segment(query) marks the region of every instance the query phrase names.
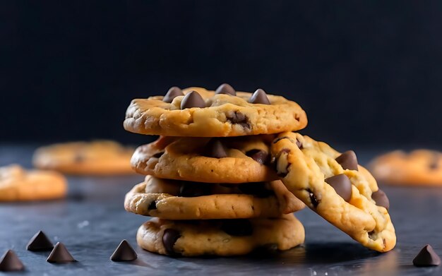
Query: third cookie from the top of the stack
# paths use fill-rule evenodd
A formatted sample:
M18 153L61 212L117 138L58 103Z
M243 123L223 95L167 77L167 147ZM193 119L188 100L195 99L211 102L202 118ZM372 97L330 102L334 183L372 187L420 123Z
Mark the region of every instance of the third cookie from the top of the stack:
M281 181L208 184L147 176L126 194L124 208L167 220L280 217L304 208Z

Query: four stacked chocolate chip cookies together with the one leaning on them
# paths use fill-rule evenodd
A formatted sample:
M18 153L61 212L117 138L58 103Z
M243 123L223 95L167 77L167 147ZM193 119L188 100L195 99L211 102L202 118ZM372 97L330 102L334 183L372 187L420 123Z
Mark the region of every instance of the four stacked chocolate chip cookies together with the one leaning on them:
M131 159L146 178L125 208L154 217L138 244L169 256L285 250L304 242L292 212L307 205L362 245L392 249L386 194L354 152L292 132L306 124L296 102L227 84L133 100L124 128L160 136Z

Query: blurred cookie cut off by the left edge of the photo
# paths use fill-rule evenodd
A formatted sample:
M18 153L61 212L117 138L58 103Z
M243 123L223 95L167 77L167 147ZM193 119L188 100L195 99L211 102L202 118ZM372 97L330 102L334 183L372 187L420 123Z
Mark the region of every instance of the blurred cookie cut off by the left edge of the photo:
M50 200L66 196L67 184L58 172L0 167L0 201Z

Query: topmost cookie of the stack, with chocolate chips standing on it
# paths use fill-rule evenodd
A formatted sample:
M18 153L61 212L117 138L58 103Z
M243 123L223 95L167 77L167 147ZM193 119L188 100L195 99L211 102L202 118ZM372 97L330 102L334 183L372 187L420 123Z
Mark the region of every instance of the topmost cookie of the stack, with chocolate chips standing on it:
M124 120L127 131L148 135L227 137L297 131L306 113L284 97L236 92L230 85L216 91L170 88L165 96L136 99Z

